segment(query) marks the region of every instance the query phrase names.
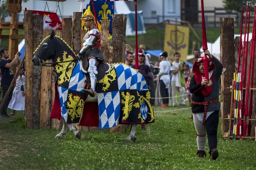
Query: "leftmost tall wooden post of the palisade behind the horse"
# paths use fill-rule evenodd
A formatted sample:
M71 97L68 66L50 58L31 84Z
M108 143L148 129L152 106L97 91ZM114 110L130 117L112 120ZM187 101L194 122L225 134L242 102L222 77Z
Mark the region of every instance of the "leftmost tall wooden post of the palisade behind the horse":
M25 122L26 127L33 127L33 12L24 11L25 55L26 56L26 96L25 96Z

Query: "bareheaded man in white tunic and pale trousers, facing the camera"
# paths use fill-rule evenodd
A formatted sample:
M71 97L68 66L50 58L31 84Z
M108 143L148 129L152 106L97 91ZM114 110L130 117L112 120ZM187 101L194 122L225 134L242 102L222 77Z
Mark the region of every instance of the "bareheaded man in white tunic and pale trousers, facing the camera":
M185 85L181 79L183 77L183 62L180 62L180 53L176 52L174 54L175 61L172 62L172 96L173 96L173 106L177 106L177 92L180 91L180 105L185 106ZM185 81L185 79L184 79Z

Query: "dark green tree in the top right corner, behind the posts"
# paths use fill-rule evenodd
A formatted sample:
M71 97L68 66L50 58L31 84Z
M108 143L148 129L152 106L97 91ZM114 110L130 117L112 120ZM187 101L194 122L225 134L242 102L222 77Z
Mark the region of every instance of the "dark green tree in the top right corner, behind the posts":
M222 2L224 3L224 8L226 9L226 11L228 11L228 12L235 11L240 14L242 13L243 0L223 0ZM253 3L252 3L252 5L253 5ZM244 7L246 8L246 1L244 4Z

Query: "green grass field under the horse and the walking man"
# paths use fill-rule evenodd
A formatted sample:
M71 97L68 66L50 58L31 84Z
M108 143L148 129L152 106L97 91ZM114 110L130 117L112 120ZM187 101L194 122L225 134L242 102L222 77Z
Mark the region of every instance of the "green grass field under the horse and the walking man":
M184 108L154 107L151 135L139 125L137 142L128 144L123 143L128 133L82 132L85 139L80 141L68 132L64 139L54 139L60 130L27 129L20 112L12 118L0 118L0 170L255 169L255 141L224 139L220 124L219 158L211 161L207 154L198 159L190 109ZM175 111L179 109L184 110Z

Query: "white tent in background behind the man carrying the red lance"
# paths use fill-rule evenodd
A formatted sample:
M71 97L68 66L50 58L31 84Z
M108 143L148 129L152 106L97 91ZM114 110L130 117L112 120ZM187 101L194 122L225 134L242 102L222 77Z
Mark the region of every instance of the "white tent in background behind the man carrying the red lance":
M234 34L234 38L236 38L236 37L240 37L240 34ZM249 33L249 41L251 39L252 39L252 33ZM245 40L247 40L247 34L246 34ZM244 34L242 34L242 41L244 42ZM221 43L221 37L218 37L217 40L215 40L215 42L213 42L213 43L207 42L208 50L217 59L220 59L220 56L221 56L221 46L220 46L220 43ZM201 51L201 56L204 56L203 47L200 48L200 51ZM187 59L192 59L193 57L194 57L194 55L189 55L187 57Z

